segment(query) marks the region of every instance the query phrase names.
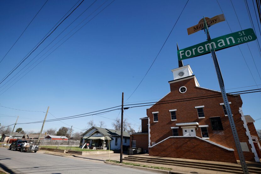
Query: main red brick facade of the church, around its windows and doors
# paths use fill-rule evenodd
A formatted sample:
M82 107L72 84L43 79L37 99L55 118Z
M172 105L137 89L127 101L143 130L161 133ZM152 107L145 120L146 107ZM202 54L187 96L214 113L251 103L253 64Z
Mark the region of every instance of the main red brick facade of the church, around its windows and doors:
M186 93L179 92L179 88L181 86L185 86L187 88ZM238 159L229 119L227 116L225 116L223 107L220 105L220 103L224 103L220 93L196 87L194 78L171 83L170 90L171 92L160 101L202 96L210 96L212 98L153 105L150 109L147 109L147 116L150 117L151 143L157 143L169 136L172 136L172 130L170 127L175 127L176 123L198 122L199 125L208 125L208 134L210 141L223 145L227 148L234 149L236 158ZM219 94L220 97L215 97L217 96L217 94ZM250 150L250 152L244 152L245 158L247 161L254 161L254 154L251 152L251 146L248 143L248 137L246 136L246 129L243 126L241 114L239 113L239 107L242 106L241 97L228 95L228 99L232 103L230 104L230 107L232 110L240 142L246 142ZM197 109L195 109L195 106L201 105L204 105L203 110L205 118L198 118ZM177 121L171 121L169 112L170 109L177 109ZM153 122L152 112L156 111L159 112L158 122ZM220 117L224 130L213 131L209 119L210 117ZM179 135L183 135L182 129L179 130ZM196 130L196 135L198 137L202 137L200 128Z

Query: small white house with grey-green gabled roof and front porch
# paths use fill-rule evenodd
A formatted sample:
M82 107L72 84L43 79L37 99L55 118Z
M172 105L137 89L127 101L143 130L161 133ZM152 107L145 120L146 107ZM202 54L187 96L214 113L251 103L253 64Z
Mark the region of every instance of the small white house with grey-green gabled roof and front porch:
M120 149L120 132L113 129L105 129L101 127L91 127L89 130L81 134L82 145L89 144L89 147L107 147L112 150ZM130 135L123 131L123 146L130 145Z

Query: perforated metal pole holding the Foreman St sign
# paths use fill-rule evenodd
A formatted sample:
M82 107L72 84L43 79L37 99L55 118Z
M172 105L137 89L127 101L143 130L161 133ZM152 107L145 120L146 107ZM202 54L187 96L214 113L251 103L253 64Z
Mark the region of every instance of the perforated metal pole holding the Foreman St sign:
M211 38L210 38L210 35L209 35L209 31L208 31L208 25L206 23L205 17L203 17L203 19L204 19L204 30L205 30L205 33L207 35L208 41L209 41ZM241 166L242 166L242 169L243 169L243 173L248 174L246 160L245 160L245 157L244 157L241 145L240 145L240 141L239 141L239 138L238 138L238 135L237 135L237 132L236 132L236 125L235 125L235 122L234 122L234 119L233 119L233 116L232 116L232 112L231 112L231 109L230 109L229 101L228 101L228 98L227 98L227 95L226 95L225 85L224 85L223 77L222 77L222 74L221 74L221 71L220 71L220 68L219 68L219 63L218 63L218 59L217 59L216 52L215 52L215 49L214 49L214 45L210 46L210 47L211 48L209 48L209 49L211 50L211 55L212 55L214 65L215 65L215 69L216 69L216 72L217 72L221 94L222 94L224 104L225 104L225 107L226 107L226 110L227 110L227 115L228 115L229 123L230 123L231 129L232 129L233 138L234 138L234 141L236 143L237 154L239 156L239 160L240 160L240 163L241 163Z

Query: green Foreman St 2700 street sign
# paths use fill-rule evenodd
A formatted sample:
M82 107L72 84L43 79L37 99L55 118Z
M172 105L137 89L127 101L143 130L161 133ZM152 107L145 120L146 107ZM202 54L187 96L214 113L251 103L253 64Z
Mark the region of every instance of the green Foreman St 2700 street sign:
M208 54L211 52L212 47L215 49L215 51L218 51L224 48L229 48L242 43L254 41L256 39L257 36L255 35L253 29L248 28L246 30L220 36L188 48L180 49L178 50L178 59L184 60Z

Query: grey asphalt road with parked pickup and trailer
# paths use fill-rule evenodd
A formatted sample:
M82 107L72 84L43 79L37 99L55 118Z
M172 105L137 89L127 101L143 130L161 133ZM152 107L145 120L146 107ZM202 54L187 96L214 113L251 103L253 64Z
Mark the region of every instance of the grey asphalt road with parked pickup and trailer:
M129 167L109 165L103 162L78 160L50 154L19 152L0 148L0 168L11 174L151 174L154 172Z

